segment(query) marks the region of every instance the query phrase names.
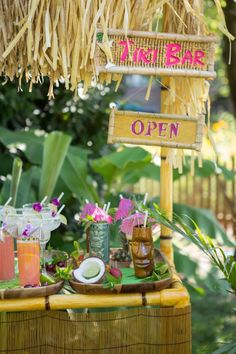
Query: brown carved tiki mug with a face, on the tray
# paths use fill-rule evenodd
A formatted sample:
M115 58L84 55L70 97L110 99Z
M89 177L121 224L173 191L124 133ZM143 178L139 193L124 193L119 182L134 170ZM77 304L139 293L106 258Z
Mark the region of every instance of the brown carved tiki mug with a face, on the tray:
M131 250L136 277L145 278L151 275L154 267L154 246L150 227L134 227Z

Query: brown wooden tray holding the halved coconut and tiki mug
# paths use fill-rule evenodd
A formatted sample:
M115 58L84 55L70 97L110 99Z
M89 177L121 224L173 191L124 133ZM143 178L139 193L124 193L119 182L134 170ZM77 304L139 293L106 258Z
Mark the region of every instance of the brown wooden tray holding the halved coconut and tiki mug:
M165 262L168 263L165 256L158 250L155 249L155 262ZM103 288L102 284L84 284L76 280L70 280L71 287L79 294L120 294L120 293L142 293L148 291L160 291L168 288L172 281L172 271L169 267L170 277L146 283L130 283L130 284L118 284L115 285L113 289Z

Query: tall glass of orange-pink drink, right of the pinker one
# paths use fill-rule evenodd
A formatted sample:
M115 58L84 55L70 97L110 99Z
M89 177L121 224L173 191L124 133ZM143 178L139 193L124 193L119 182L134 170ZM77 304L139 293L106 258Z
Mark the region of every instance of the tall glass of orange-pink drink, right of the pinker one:
M36 239L17 239L20 285L40 284L40 244Z

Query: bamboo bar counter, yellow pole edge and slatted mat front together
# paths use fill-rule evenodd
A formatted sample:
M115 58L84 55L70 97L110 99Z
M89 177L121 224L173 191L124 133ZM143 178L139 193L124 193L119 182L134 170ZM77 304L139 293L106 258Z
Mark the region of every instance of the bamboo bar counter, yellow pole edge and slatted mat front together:
M189 295L176 274L159 292L0 300L4 354L191 354L191 336Z

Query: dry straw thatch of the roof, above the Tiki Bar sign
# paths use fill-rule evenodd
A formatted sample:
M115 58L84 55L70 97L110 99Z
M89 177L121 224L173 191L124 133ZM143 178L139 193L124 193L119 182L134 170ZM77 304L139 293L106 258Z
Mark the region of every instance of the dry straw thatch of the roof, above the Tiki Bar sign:
M228 32L219 0L214 0L220 29ZM0 72L6 78L22 77L29 87L41 77L50 79L49 98L53 86L64 79L65 87L75 91L79 82L86 81L86 89L96 77L94 52L96 27L100 25L107 36L108 28L152 30L153 20L166 6L169 32L208 33L200 0L0 0L1 35ZM173 21L169 21L172 18ZM109 45L103 48L111 59ZM101 74L110 82L111 74ZM120 81L120 77L113 77ZM101 78L99 78L101 80Z

